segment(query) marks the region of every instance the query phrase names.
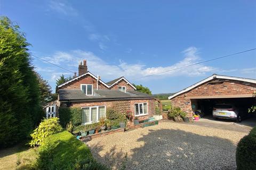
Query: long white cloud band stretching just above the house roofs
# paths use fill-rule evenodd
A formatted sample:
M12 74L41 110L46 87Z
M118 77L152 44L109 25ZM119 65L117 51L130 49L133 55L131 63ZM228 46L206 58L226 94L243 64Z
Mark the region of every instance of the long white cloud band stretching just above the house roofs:
M157 74L159 72L164 72L167 70L184 67L186 65L195 64L201 61L201 58L198 55L198 49L196 47L189 47L184 50L182 54L184 55L184 58L181 61L165 67L147 67L143 64L126 63L124 61L119 61L118 65L113 65L109 64L106 61L103 61L99 56L96 56L92 52L86 52L83 50L73 50L71 52L56 52L51 57L45 57L44 59L50 62L54 62L55 64L61 64L62 67L75 71L78 70L77 67L80 61L87 60L89 71L94 74L99 74L103 80L111 80L121 76L124 76L129 80L133 80L151 74ZM198 64L186 67L185 69L157 74L152 77L143 78L141 80L161 79L181 75L195 77L202 76L209 72L213 73L215 70L217 69L214 67L206 66L204 64ZM58 78L60 74L61 73L54 73L52 79Z

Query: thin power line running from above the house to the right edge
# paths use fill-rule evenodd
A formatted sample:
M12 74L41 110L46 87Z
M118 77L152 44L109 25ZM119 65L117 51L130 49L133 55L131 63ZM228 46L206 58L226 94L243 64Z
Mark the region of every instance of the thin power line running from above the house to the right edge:
M233 56L233 55L236 55L236 54L241 54L241 53L250 52L250 51L255 50L255 49L256 49L256 48L248 49L248 50L245 50L245 51L243 51L243 52L238 52L238 53L234 53L234 54L225 55L225 56L222 56L222 57L213 58L213 59L211 59L211 60L207 60L207 61L204 61L204 62L198 62L198 63L195 63L195 64L186 65L186 66L179 67L179 68L176 68L176 69L166 70L166 71L159 72L159 73L156 73L156 74L146 75L146 76L144 76L144 77L140 77L140 78L133 79L133 80L138 80L138 79L142 79L142 78L147 78L147 77L151 77L151 76L153 76L153 75L162 74L162 73L166 73L166 72L174 71L174 70L178 70L178 69L183 69L183 68L186 68L186 67L189 67L189 66L193 66L193 65L202 64L202 63L206 63L206 62L211 62L211 61L214 61L214 60L219 60L220 58L225 58L225 57Z

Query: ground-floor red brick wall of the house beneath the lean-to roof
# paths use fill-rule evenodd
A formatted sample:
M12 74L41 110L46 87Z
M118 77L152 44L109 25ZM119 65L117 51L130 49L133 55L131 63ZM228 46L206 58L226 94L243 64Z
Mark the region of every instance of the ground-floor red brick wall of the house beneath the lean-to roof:
M134 117L134 104L135 103L148 103L148 115L139 116L139 120L145 120L148 117L155 115L155 99L141 99L141 100L114 100L114 101L88 101L72 103L70 107L87 107L87 106L104 106L106 109L115 107L120 112L125 113L130 110Z

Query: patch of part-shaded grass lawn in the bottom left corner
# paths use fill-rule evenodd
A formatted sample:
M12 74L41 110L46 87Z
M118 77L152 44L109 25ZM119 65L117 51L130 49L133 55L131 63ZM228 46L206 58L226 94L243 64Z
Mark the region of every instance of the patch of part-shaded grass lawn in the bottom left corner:
M0 170L31 169L30 164L36 159L36 148L28 148L23 144L0 150Z

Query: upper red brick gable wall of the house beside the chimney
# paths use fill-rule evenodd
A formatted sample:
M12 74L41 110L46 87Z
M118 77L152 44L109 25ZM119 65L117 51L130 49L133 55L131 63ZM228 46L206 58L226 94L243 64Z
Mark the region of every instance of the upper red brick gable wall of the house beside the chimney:
M60 87L60 89L81 89L80 84L93 84L93 89L97 89L97 80L91 77L91 75L85 75L82 78ZM107 87L99 82L99 89L107 89Z

